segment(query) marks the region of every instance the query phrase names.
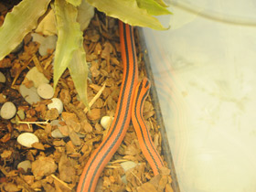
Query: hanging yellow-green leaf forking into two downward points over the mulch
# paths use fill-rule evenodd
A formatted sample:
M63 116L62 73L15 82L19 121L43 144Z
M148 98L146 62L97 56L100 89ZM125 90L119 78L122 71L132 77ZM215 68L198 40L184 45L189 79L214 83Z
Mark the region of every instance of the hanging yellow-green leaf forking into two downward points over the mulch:
M91 9L90 6L87 7ZM54 61L54 88L61 74L69 68L80 101L89 109L87 101L88 68L83 49L82 32L80 24L77 22L78 7L67 3L65 0L55 0L55 13L57 16L58 42ZM93 15L94 12L91 12L91 14ZM87 19L91 20L91 16Z

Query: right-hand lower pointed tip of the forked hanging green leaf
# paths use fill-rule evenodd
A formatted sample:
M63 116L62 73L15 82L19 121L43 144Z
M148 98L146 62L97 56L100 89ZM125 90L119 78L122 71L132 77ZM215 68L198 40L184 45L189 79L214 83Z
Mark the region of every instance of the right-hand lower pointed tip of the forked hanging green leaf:
M87 109L90 110L87 100L87 78L88 67L86 63L85 51L82 45L79 49L74 51L73 58L69 63L69 72L74 81L76 90L79 93L80 101L82 101Z

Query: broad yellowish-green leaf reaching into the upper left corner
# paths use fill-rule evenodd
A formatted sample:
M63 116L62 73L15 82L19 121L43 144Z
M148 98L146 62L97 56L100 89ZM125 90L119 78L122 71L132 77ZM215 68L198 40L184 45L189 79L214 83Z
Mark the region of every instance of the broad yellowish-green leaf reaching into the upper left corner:
M23 0L5 16L0 27L0 60L4 59L33 28L48 8L50 0Z

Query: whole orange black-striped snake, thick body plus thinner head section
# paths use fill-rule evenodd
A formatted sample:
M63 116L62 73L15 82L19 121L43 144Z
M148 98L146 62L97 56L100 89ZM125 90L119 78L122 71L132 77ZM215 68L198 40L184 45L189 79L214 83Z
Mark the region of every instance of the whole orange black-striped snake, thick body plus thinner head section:
M156 155L157 152L149 132L145 130L144 119L141 117L144 98L146 97L150 83L147 79L142 80L140 83L138 80L133 27L119 21L119 32L123 60L123 80L116 111L109 132L92 153L82 171L77 192L93 192L95 190L103 168L109 163L112 155L114 155L118 147L122 144L132 116L134 123L139 124L137 125L138 128L135 129L139 133L139 144L144 143L144 155L148 159L149 164L154 167L154 174L158 174L159 168L163 166L163 162L159 160L161 157ZM134 98L136 99L134 100ZM137 105L141 107L137 107Z

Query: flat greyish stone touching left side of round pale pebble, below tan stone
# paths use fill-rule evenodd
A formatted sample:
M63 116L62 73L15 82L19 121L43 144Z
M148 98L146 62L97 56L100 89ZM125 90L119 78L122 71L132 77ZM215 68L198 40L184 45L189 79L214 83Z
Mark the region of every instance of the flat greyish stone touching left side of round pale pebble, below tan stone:
M19 92L29 104L34 104L41 101L35 87L27 88L25 85L21 84L19 86Z

